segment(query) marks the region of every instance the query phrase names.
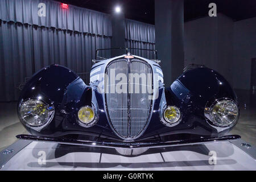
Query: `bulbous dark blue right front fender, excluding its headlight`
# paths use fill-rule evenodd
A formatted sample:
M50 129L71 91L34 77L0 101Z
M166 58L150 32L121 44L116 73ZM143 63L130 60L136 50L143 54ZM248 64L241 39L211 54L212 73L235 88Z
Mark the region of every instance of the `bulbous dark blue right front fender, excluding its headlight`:
M166 94L167 104L169 102L180 108L184 117L182 123L184 125L187 123L192 132L200 126L207 131L205 132L207 135L222 135L228 133L236 124L216 127L205 118L205 107L218 99L229 98L238 105L236 93L229 82L212 69L196 68L187 71L166 90L168 92ZM195 118L197 118L196 122L191 122Z

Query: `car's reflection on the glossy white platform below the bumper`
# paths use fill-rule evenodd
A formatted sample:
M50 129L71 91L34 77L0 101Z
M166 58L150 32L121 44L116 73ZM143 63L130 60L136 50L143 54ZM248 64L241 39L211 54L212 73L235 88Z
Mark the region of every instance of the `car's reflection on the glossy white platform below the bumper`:
M211 146L211 144L208 145ZM32 155L34 158L38 158L38 152L42 151L42 148L44 147L42 146L41 142L38 142L38 144L35 145L35 147L32 149ZM217 165L236 164L236 160L227 159L228 156L234 153L234 148L232 143L225 142L224 145L219 145L218 148L210 148L205 144L194 144L187 146L137 149L84 147L55 144L46 151L46 164L42 165L38 162L29 162L27 166L43 168L210 167L212 166L209 164L210 150L216 151L218 158L226 158L218 159ZM189 154L190 156L186 156L186 154ZM97 161L90 159L91 156L97 155L99 156ZM179 155L179 158L176 158L176 155ZM86 157L88 159L86 159Z

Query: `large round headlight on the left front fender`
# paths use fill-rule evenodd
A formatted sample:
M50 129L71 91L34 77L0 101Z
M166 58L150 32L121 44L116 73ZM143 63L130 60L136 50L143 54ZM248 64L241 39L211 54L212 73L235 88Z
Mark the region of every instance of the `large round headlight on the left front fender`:
M32 127L43 126L50 122L54 115L54 107L41 100L30 99L20 105L20 118Z

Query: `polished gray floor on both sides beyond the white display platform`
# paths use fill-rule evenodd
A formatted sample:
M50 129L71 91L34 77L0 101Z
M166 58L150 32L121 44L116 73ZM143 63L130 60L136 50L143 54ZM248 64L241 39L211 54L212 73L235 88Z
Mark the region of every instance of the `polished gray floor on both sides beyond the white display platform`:
M240 101L240 120L231 131L256 146L256 92L236 90ZM16 102L0 102L0 151L15 142L15 136L26 134L16 114Z

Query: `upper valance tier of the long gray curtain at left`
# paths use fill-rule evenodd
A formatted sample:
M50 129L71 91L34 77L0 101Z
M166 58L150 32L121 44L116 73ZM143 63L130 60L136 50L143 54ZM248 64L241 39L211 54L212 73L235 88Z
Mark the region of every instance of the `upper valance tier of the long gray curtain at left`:
M46 4L46 17L38 16L39 3ZM60 4L46 0L1 0L0 19L6 22L112 36L109 15L72 5L69 5L68 9L62 9Z

